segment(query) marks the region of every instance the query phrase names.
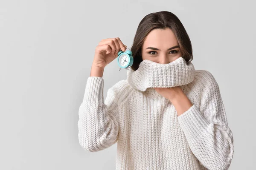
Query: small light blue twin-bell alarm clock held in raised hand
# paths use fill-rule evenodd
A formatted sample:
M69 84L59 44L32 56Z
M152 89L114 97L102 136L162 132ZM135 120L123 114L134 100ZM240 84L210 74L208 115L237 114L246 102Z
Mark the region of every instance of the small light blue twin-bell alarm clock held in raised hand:
M134 61L131 50L127 47L125 51L119 51L117 54L117 64L120 67L119 71L121 68L131 69Z

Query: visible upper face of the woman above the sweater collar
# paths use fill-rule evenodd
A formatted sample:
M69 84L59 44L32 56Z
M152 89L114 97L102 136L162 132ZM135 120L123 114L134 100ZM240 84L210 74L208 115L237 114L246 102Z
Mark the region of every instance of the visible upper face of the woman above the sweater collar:
M142 59L168 64L181 57L177 38L170 28L154 29L142 46Z

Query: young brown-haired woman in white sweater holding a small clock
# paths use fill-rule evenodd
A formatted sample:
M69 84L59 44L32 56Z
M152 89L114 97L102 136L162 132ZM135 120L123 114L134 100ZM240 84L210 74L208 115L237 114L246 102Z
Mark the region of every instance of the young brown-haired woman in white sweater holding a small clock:
M117 142L116 170L226 170L233 158L218 83L195 70L192 45L168 11L141 20L127 79L103 99L106 65L125 45L109 38L96 47L79 108L79 143L96 152Z

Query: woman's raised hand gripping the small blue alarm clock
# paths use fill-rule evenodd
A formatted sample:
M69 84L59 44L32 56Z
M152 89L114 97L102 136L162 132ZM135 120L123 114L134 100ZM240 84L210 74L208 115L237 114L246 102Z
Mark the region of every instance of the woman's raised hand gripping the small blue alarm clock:
M127 46L122 43L119 37L101 40L95 49L93 66L104 69L106 65L118 57L117 53L120 50L125 51L126 48Z

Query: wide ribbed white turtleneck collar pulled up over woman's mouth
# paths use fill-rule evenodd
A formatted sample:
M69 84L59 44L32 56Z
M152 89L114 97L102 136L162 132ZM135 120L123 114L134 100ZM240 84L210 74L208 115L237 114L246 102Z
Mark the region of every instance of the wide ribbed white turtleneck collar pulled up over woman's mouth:
M131 87L155 96L157 93L154 88L171 88L189 84L195 78L194 71L192 62L187 65L183 57L168 64L144 59L136 71L128 69L127 82Z

